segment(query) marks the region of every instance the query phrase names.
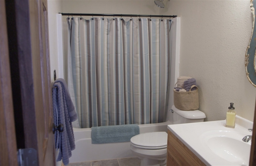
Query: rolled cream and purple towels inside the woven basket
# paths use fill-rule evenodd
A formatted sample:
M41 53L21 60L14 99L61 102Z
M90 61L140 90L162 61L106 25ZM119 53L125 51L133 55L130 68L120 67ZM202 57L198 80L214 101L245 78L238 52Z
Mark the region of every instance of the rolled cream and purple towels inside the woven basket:
M196 79L186 76L180 76L177 79L177 87L174 87L176 91L187 92L192 85L196 85ZM196 90L196 87L193 87L191 91Z

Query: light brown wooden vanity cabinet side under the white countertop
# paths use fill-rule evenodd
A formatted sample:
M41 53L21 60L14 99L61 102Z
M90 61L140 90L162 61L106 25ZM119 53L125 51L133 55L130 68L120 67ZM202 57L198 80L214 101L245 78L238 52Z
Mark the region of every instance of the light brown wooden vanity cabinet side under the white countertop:
M168 130L167 166L205 166L186 145Z

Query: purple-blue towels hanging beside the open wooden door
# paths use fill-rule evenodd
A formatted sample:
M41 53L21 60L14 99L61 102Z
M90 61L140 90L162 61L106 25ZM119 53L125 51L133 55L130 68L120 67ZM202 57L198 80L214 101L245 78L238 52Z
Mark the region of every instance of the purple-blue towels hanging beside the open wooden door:
M68 93L68 86L64 79L54 81L52 89L52 107L54 124L64 125L64 131L54 134L56 149L59 149L57 161L62 159L68 165L71 150L75 149L75 139L72 122L77 119L76 110Z

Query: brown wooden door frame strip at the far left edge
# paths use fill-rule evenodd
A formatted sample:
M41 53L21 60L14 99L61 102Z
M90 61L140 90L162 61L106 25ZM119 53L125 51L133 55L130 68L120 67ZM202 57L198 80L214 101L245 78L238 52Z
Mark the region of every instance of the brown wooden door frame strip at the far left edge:
M17 165L5 3L0 1L0 166Z

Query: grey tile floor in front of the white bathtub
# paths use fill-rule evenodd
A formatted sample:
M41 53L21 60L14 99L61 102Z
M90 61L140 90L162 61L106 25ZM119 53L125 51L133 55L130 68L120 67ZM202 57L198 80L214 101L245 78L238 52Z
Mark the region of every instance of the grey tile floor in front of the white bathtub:
M140 159L137 157L113 159L113 160L100 160L92 162L78 162L70 163L68 166L140 166Z

